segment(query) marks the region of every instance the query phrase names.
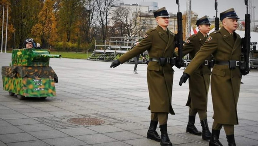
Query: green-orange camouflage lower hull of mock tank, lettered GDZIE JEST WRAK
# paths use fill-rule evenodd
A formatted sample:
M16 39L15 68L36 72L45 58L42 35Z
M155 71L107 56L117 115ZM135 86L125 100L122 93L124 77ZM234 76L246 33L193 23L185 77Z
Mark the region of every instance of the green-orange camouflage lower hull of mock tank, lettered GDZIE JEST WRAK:
M50 78L11 78L2 76L3 89L25 97L56 96L54 79Z

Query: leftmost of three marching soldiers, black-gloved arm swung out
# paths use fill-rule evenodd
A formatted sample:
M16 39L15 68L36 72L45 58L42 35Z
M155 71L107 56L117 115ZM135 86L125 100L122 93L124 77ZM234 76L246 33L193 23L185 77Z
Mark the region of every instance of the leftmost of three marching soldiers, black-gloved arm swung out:
M167 133L168 113L175 114L171 106L172 85L174 70L173 65L178 59L175 54L175 35L168 30L169 14L165 7L154 12L158 26L148 30L144 39L117 60L110 67L117 67L134 56L148 51L150 61L147 67L147 82L150 97L151 123L147 138L160 141L162 146L172 146ZM176 59L177 58L177 59ZM179 67L180 68L180 67ZM161 138L156 132L159 122Z

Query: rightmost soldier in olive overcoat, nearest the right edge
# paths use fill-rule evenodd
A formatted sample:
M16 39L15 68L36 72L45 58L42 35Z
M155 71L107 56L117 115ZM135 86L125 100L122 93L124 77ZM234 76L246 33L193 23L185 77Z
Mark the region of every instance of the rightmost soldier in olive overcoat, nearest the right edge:
M185 69L179 85L186 82L189 76L203 61L213 55L215 64L211 75L211 92L213 103L212 137L209 146L222 146L219 133L224 127L229 146L235 146L234 125L238 124L237 101L242 74L239 62L243 61L241 54L241 38L235 32L239 17L233 8L220 13L223 26L219 31L212 32L194 59Z

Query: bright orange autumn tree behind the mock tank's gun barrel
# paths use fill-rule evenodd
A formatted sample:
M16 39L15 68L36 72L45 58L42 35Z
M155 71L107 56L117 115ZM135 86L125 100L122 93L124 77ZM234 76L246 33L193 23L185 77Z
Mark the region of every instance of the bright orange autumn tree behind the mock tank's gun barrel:
M32 27L32 35L42 47L57 40L56 19L53 13L53 1L46 0L38 15L38 23Z

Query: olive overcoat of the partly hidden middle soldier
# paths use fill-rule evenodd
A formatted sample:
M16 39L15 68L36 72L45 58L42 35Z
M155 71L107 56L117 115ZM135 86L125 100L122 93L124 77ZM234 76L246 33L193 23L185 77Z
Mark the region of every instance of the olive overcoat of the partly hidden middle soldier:
M190 58L200 50L206 38L199 31L190 36L182 49L182 56L189 53ZM211 55L205 60L211 60ZM189 94L186 106L194 109L207 110L208 91L210 86L211 69L201 65L189 78Z

